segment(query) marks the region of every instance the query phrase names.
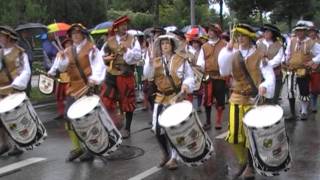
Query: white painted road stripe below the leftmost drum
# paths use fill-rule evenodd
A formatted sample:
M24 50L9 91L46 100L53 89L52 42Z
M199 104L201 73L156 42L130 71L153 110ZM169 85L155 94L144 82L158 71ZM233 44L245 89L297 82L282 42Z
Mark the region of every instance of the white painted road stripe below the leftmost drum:
M0 177L4 174L21 169L22 167L29 166L31 164L38 163L38 162L41 162L44 160L46 160L46 158L29 158L29 159L26 159L23 161L19 161L19 162L1 167L0 168Z

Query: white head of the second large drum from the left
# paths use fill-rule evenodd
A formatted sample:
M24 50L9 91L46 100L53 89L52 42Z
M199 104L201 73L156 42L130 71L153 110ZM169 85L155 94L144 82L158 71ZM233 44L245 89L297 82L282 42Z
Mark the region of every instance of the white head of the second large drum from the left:
M81 118L92 111L99 104L99 101L100 98L96 95L83 96L70 106L67 115L70 119Z

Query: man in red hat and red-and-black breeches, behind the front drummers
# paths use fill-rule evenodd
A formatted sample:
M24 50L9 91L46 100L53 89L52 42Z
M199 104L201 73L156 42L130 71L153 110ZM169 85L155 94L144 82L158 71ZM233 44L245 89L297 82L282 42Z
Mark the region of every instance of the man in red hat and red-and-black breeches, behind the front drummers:
M136 108L134 71L142 57L139 41L127 33L128 22L127 16L115 20L109 38L101 48L107 65L103 103L108 112L113 113L119 101L120 110L125 113L126 119L123 138L130 137L133 111Z

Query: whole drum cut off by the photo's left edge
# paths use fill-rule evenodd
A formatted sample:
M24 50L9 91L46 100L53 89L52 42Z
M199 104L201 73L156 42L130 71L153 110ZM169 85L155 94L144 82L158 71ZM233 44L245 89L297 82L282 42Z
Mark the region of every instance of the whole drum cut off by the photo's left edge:
M0 119L19 149L31 150L47 137L45 127L24 92L0 101Z

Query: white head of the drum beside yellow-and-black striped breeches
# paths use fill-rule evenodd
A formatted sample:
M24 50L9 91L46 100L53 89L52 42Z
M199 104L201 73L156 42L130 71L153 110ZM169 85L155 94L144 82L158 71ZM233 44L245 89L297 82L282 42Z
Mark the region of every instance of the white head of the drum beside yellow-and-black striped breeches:
M246 113L243 122L248 127L263 128L271 126L283 117L283 109L279 105L262 105Z

